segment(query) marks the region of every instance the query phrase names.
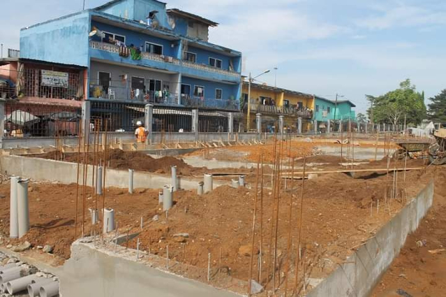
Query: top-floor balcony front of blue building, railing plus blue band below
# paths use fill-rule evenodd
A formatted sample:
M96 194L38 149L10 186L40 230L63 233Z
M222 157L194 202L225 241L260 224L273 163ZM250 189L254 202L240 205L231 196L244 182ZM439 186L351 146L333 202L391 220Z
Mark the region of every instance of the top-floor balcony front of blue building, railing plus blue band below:
M112 54L116 54L119 55L119 53L121 52L121 48L118 45L113 45L110 43L102 43L102 42L98 42L98 41L90 41L90 48L93 50L101 50L107 53L112 53ZM94 56L94 55L92 55ZM102 57L103 59L111 59L111 57ZM113 57L115 59L117 59L117 57ZM128 61L133 61L131 59L131 57L122 57L120 56L121 59L128 59ZM191 69L191 75L195 75L197 73L195 73L195 71L203 71L205 73L211 73L214 75L223 75L223 78L220 78L221 80L224 80L225 78L228 78L228 80L232 80L232 81L239 81L240 79L240 73L237 73L235 71L229 71L229 70L225 70L225 69L221 69L221 68L216 68L216 67L212 67L209 65L205 65L205 64L197 64L197 63L193 63L191 61L184 61L184 60L180 60L180 59L176 59L174 57L168 57L168 56L164 56L164 55L156 55L156 54L152 54L150 52L141 52L141 60L142 61L147 61L148 63L143 63L143 64L147 64L147 66L154 66L155 68L165 68L166 70L169 71L174 71L174 72L187 72L187 71L181 71L181 67L184 69ZM139 61L139 60L137 60ZM160 64L162 63L162 64ZM138 63L140 64L140 63ZM163 65L163 66L158 66L158 65ZM187 74L187 73L186 73ZM201 74L201 76L208 76L204 73L198 73L199 75ZM218 79L218 78L217 78Z

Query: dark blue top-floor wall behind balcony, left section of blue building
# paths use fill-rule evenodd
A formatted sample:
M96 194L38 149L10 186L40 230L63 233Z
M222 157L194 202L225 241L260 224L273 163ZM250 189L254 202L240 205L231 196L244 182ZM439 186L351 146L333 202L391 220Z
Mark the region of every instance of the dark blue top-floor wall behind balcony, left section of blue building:
M114 27L110 24L103 24L101 22L96 22L96 21L92 21L91 24L92 26L98 27L99 30L126 36L126 45L131 45L133 43L133 45L139 48L140 45L144 47L145 42L148 41L159 45L163 45L163 55L170 57L177 57L180 41L169 41L167 39L162 39L155 36L138 33L136 31ZM94 36L94 38L91 39L94 41L101 41L101 38L99 36ZM174 48L172 48L172 44L174 44Z

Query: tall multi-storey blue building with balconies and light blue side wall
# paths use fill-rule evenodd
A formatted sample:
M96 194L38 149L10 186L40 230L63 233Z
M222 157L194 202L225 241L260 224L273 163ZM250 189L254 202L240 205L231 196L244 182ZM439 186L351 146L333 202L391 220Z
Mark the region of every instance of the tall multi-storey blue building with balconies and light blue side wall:
M241 53L209 43L217 25L161 1L113 0L22 29L20 57L87 67L91 115L129 129L136 115L122 114L147 103L185 114L239 110Z

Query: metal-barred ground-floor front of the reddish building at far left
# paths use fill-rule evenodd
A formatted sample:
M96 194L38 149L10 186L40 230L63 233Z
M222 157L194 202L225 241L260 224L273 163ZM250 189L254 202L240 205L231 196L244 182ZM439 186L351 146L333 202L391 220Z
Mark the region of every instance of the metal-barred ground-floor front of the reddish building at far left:
M76 136L81 108L6 101L6 138Z

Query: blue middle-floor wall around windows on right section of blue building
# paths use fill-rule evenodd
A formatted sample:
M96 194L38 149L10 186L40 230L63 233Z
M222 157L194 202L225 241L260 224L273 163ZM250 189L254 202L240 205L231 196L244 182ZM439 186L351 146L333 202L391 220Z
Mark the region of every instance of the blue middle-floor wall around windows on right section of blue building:
M229 100L231 96L233 99L238 100L239 85L228 85L221 82L212 82L209 80L199 80L197 78L189 78L184 74L181 75L181 83L191 85L191 96L193 96L193 89L195 85L205 87L205 99L206 101L215 100L215 89L223 90L223 101Z

